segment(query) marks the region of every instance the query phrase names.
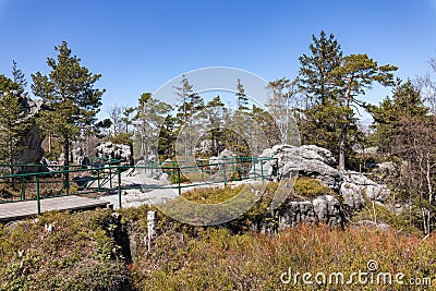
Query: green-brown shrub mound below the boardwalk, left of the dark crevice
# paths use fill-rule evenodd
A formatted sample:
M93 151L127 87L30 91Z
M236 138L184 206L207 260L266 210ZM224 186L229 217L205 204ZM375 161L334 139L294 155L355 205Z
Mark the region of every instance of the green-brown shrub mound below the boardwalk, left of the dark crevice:
M120 290L130 274L109 210L48 213L0 229L0 290Z

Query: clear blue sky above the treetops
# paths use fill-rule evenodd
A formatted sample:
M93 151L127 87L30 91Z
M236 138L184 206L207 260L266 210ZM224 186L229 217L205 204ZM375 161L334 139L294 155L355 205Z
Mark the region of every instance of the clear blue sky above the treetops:
M10 76L14 59L31 83L66 40L102 74L105 114L204 66L293 77L320 29L334 33L346 54L368 53L414 77L436 57L436 0L0 0L0 73ZM367 98L377 102L388 93L376 87Z

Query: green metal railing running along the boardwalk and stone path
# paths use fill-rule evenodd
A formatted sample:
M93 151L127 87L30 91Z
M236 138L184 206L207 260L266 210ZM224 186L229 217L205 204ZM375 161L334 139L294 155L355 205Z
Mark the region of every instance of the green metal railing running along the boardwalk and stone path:
M40 214L40 199L44 198L117 191L121 208L122 190L138 189L137 185L122 184L123 172L131 175L134 171L143 170L144 172L148 171L152 178L166 173L169 175L170 183L141 184L140 189L178 189L179 195L181 195L183 187L215 183L227 185L231 181L246 179L270 180L271 174L265 174L264 163L271 160L275 160L277 167L277 159L270 157L221 158L211 163L209 160L155 161L143 166L120 166L119 160L94 158L86 167L48 166L52 170L44 172L33 172L32 169L47 167L45 165L0 165L0 168L12 171L12 173L0 175L0 185L12 185L13 187L20 185L15 187L20 192L19 199L2 199L0 203L36 201L37 213ZM71 179L74 174L80 175ZM65 179L66 177L70 178ZM71 186L74 183L77 185L76 187ZM44 192L41 189L45 185L51 185L52 189ZM53 187L57 190L53 191Z

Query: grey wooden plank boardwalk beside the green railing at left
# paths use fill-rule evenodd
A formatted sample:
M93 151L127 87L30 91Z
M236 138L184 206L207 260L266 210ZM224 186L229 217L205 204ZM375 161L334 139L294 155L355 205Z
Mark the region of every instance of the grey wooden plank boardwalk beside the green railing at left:
M109 202L82 196L61 196L40 199L41 213L50 210L85 210L107 207ZM17 220L35 216L38 213L36 201L23 201L0 204L0 221Z

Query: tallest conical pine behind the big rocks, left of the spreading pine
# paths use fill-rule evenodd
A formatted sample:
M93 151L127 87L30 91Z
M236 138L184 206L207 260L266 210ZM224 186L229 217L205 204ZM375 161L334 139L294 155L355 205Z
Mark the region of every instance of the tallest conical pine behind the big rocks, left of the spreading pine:
M329 149L339 157L339 141L342 120L347 117L349 128L355 128L350 110L340 107L337 88L330 73L341 64L342 51L332 34L324 31L319 38L312 36L311 54L299 58L299 90L303 104L295 110L302 144L313 144ZM355 120L354 120L355 121ZM356 132L348 131L349 137ZM349 138L349 140L350 140ZM351 153L351 146L347 150Z

